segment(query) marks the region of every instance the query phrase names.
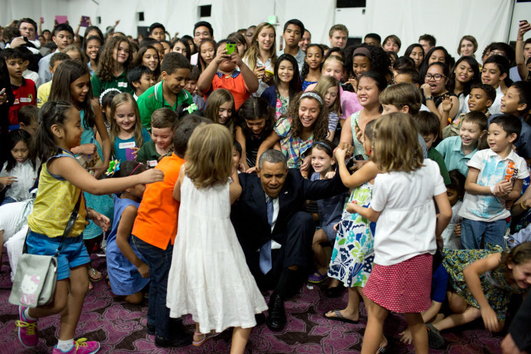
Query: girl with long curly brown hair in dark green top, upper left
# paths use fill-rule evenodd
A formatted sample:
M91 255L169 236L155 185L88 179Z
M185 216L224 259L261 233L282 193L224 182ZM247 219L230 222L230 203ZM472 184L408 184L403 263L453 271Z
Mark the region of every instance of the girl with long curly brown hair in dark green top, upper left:
M98 70L92 75L92 92L99 97L106 89L119 89L134 94L133 87L127 84L127 71L131 64L129 41L122 36L112 37L101 52ZM50 98L51 99L51 98Z

